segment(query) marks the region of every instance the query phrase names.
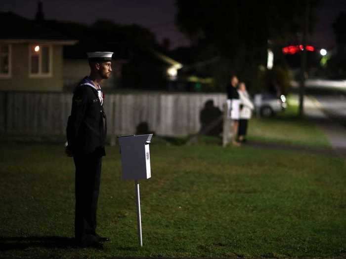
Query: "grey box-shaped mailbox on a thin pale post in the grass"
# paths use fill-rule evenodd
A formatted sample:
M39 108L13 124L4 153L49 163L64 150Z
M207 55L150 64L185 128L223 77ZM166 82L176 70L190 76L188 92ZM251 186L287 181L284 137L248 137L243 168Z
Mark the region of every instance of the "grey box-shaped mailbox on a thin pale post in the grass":
M134 180L137 205L138 240L141 247L143 246L143 241L139 180L149 179L151 177L149 144L152 136L153 134L118 137L123 168L123 179Z

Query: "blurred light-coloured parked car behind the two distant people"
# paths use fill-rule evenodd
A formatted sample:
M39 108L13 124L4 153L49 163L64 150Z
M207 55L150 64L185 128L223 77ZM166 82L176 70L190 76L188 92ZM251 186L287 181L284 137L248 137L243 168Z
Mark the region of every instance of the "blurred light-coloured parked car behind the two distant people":
M287 108L286 96L279 98L275 94L264 93L255 95L256 113L263 117L270 117Z

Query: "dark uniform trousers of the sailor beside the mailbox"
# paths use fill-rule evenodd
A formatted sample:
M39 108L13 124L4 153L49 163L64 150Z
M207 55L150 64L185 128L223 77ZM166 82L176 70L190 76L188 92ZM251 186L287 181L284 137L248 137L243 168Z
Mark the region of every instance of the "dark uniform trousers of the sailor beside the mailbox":
M75 238L82 245L97 241L96 210L100 189L102 156L95 154L73 157L76 167Z

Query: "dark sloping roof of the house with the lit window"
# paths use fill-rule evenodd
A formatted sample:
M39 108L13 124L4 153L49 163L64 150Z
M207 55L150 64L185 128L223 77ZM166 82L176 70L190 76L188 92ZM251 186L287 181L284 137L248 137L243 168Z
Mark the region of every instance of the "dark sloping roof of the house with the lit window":
M0 12L1 41L50 41L58 44L75 44L77 40L67 37L60 32L53 31L39 22L35 22L12 12Z

